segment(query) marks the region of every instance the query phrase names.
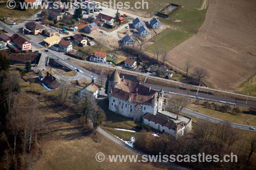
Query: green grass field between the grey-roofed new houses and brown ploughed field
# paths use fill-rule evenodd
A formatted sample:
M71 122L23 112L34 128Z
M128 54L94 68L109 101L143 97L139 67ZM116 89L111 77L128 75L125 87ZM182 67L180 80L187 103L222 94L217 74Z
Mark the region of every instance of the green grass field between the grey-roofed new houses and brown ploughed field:
M176 47L198 32L204 23L205 14L206 10L183 7L175 11L169 18L159 18L170 28L155 36L154 44L147 46L146 50L153 53L157 48L160 48L160 51L169 51Z

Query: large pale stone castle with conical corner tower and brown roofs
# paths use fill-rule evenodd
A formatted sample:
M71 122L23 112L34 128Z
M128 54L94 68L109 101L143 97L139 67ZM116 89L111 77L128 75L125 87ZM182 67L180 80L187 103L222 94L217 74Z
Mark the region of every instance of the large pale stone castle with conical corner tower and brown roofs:
M115 70L108 81L108 99L110 111L141 121L146 113L162 111L163 90L158 93L139 82L121 79Z

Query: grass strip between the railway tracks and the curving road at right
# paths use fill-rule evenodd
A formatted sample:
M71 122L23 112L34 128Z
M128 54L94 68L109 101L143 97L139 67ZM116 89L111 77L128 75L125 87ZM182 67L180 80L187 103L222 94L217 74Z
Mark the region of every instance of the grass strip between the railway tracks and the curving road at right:
M205 115L212 116L212 117L222 119L222 120L226 120L229 122L256 126L256 116L255 115L244 114L244 113L239 113L239 115L233 115L230 113L215 111L212 109L206 109L203 106L198 106L198 105L189 105L189 107L187 107L187 108L189 108L193 111L198 111L199 113L203 113Z

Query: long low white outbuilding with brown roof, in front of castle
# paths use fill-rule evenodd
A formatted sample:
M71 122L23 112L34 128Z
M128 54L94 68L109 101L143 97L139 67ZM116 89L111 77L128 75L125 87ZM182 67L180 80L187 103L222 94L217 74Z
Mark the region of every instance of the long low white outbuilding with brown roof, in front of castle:
M191 130L192 120L184 118L187 122L182 120L175 121L171 117L157 113L156 115L147 113L143 116L143 124L150 126L163 133L168 133L175 138L183 136Z

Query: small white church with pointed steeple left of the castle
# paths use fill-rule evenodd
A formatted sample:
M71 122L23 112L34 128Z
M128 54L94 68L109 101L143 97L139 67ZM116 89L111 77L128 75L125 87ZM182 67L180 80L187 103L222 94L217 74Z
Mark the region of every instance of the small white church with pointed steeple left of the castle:
M80 91L79 91L79 96L84 98L85 97L85 94L87 95L90 95L93 99L97 99L98 96L99 96L99 88L98 86L95 84L95 78L94 78L94 75L93 75L93 78L92 78L92 82L88 85L86 85L84 88L82 88Z

